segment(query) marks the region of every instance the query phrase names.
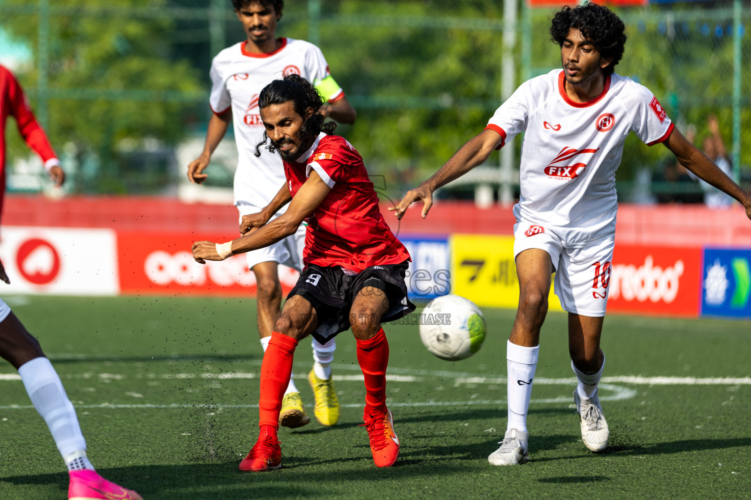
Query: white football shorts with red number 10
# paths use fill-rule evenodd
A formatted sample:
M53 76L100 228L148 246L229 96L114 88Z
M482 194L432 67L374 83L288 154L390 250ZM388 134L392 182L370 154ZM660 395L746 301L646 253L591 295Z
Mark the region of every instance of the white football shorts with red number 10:
M602 317L608 304L614 235L584 248L566 248L555 232L525 220L514 224L514 259L524 250L545 250L553 262L554 291L563 310Z

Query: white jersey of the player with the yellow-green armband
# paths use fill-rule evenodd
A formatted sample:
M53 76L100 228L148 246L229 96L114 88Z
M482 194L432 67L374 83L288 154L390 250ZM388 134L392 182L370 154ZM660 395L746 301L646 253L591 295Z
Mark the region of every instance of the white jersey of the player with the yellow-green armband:
M297 73L313 85L329 76L321 49L312 43L282 38L282 46L269 54L245 51L246 42L236 43L216 55L211 63L210 104L213 112L221 114L232 109L235 142L239 160L234 175L234 203L246 203L258 210L264 208L287 184L278 153L261 148L255 157L255 145L264 138L264 124L258 113L258 94L274 79ZM324 100L344 97L341 88ZM285 211L287 205L279 211Z

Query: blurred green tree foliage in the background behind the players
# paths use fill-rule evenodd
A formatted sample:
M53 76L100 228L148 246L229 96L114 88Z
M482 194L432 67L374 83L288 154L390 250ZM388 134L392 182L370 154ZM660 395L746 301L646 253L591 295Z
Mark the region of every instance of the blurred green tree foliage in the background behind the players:
M28 1L5 0L5 4ZM209 0L50 3L202 9L210 5ZM502 31L451 27L457 19L478 24L488 19L500 22L499 0L321 0L316 25L309 22L308 1L288 0L286 4L278 34L305 40L318 34L333 76L357 109L357 123L340 127L339 133L357 147L371 172L385 175L388 193L394 196L426 178L479 133L501 102ZM231 13L230 0L225 0L225 8ZM706 10L705 5L671 5L669 12L659 6L618 12L626 22L629 41L617 72L647 85L681 130L695 124L697 145L707 133L707 115L718 115L729 148L730 17L702 16L719 12ZM523 47L520 13L517 84L560 67L559 49L548 34L552 15L552 10L532 12L529 46ZM423 23L428 18L445 26L428 27ZM4 27L36 53L35 16L8 16ZM235 19L225 20L224 33L225 46L244 38ZM143 190L141 184L127 179L150 175L152 167L139 170L129 163L126 168L122 145L147 137L173 145L210 116L205 92L210 87L208 73L214 54L207 19L53 16L49 37L50 87L204 92L193 103L50 100L49 128L55 145L70 143L82 164L86 157L96 157L104 165L98 177L84 184L86 189ZM749 63L749 45L751 37L746 35L743 67ZM525 48L529 49L530 67L521 67ZM20 74L20 79L27 89L34 88L35 68ZM751 79L743 80L743 95L748 95ZM749 115L751 112L744 110L743 142L751 133ZM520 139L512 144L517 159L520 144ZM662 146L649 148L629 136L617 178L630 181L638 169L659 169L669 156ZM493 154L488 163L498 161L498 155ZM751 151L743 151L742 163L751 163ZM167 181L171 180L165 178Z

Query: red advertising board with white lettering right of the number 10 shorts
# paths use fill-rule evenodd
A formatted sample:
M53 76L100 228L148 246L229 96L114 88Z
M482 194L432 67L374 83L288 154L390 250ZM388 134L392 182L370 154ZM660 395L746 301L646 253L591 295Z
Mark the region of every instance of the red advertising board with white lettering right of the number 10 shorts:
M609 313L698 316L701 248L616 244Z

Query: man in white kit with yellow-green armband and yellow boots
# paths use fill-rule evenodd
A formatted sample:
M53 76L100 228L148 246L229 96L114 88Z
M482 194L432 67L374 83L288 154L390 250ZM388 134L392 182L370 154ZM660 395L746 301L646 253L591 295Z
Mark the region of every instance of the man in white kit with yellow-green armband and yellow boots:
M255 157L255 145L264 136L258 111L258 94L274 79L297 73L313 82L328 106L324 113L342 123L354 123L356 114L342 88L329 73L321 49L312 43L292 38L276 38L276 22L282 17L283 0L232 0L237 19L243 24L247 40L219 52L211 64L210 105L214 114L209 121L206 145L201 157L188 166L188 178L201 184L207 178L203 171L211 154L234 121L239 162L234 176L234 204L240 211L240 232L262 226L279 217L265 214L279 186L286 184L282 161L278 155L264 151ZM279 264L302 271L305 227L296 234L270 247L246 254L249 268L255 273L258 289L258 333L264 352L271 338L273 325L281 313L282 286ZM326 426L339 420L339 401L331 382L330 364L336 349L334 340L322 345L312 340L313 369L308 380L315 394L315 417ZM300 393L290 379L282 402L279 423L300 427L309 422Z

